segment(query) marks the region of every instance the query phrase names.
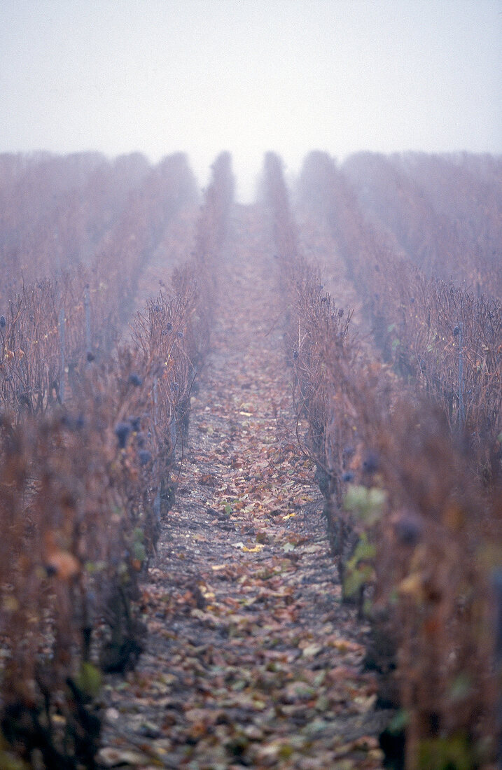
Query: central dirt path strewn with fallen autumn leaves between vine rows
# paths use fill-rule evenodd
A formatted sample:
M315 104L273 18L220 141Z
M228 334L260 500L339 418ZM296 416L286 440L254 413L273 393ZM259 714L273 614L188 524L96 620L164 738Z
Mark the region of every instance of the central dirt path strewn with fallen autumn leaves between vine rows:
M274 263L237 210L176 504L142 587L146 651L110 678L102 765L380 768L367 629L340 604L294 440Z

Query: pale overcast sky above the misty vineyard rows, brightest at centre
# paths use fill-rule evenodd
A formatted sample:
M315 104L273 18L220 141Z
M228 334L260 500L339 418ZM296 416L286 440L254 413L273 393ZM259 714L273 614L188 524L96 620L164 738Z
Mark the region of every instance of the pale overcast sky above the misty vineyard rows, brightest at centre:
M0 152L502 152L502 0L0 0Z

